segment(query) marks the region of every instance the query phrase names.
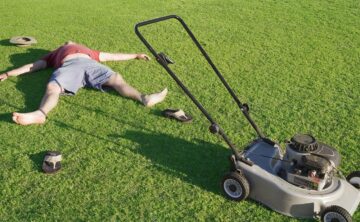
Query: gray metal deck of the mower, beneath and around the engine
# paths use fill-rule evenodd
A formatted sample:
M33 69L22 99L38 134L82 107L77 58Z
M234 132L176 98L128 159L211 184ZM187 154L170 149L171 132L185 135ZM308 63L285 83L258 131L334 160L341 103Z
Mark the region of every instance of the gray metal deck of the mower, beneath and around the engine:
M314 218L325 208L336 205L352 215L360 203L360 190L338 177L334 177L331 185L322 191L303 189L283 180L277 175L282 161L278 159L281 154L276 144L257 140L243 154L254 163L250 166L236 162L236 168L241 169L249 181L249 197L279 213Z

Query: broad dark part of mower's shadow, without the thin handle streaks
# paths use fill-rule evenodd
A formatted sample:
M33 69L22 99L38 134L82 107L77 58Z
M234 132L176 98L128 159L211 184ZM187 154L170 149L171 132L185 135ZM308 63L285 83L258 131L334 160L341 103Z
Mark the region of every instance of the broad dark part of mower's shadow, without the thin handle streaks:
M155 167L202 189L220 194L230 151L202 140L194 143L160 133L127 131L123 138L139 144L135 151Z

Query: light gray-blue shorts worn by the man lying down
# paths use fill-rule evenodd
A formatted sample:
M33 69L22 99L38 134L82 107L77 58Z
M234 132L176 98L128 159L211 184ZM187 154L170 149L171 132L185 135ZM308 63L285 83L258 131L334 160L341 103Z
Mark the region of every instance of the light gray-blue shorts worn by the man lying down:
M70 94L75 94L84 86L103 91L102 85L114 73L109 67L93 59L73 58L56 69L49 82L55 81Z

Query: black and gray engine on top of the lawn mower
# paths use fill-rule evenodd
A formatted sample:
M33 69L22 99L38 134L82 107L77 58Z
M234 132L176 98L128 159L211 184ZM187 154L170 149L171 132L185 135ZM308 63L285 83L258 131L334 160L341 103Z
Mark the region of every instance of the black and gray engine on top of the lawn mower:
M311 135L298 134L286 144L282 176L286 181L309 190L323 190L331 184L340 155Z

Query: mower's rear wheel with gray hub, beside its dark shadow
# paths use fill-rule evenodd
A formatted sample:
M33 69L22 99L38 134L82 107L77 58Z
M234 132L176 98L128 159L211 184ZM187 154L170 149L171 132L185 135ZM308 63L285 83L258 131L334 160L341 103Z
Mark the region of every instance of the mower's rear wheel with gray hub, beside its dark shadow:
M250 193L250 185L244 175L239 172L230 172L224 176L222 188L225 196L230 200L241 201Z

